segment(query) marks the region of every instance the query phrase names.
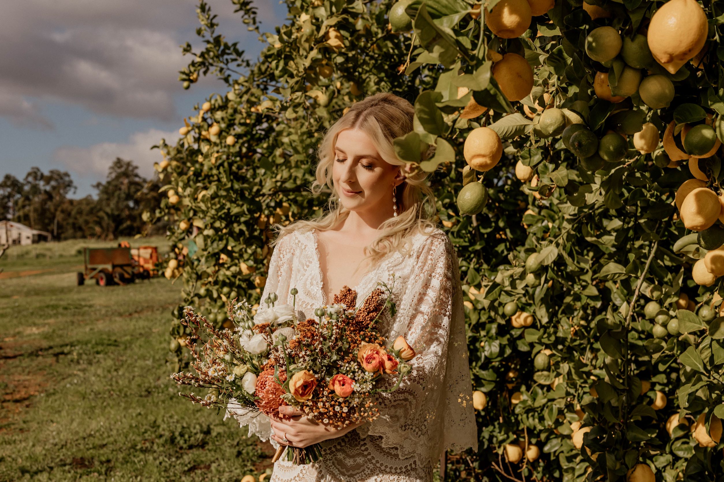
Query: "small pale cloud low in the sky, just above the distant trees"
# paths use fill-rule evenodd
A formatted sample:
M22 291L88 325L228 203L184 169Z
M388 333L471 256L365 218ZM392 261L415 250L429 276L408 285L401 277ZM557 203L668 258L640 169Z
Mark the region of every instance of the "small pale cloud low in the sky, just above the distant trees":
M128 142L101 142L90 147L64 146L54 152L54 160L70 171L84 177L105 178L108 167L116 158L132 160L141 176L153 176L153 163L161 161L161 151L151 150L161 138L173 142L178 132L150 129L131 134Z

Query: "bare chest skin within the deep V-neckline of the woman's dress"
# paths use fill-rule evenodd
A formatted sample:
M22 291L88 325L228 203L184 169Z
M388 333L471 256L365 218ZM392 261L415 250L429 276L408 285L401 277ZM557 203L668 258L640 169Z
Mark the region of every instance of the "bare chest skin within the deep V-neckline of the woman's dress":
M332 303L334 295L347 285L355 289L364 275L370 271L369 260L361 263L365 257L364 248L369 242L351 239L338 231L316 231L319 240L319 267L322 275L324 293Z

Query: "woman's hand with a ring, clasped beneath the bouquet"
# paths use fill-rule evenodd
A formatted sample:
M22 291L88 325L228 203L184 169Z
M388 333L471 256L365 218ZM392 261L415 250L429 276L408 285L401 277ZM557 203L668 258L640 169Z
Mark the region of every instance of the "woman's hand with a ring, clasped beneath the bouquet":
M301 410L297 410L289 405L279 407L279 414L280 416L272 415L269 417L271 418L271 428L274 429L274 435L271 437L279 442L279 444L300 448L308 447L327 439L335 439L364 423L350 423L350 425L343 429L337 429L327 423L321 423L308 418ZM289 442L282 442L285 433Z

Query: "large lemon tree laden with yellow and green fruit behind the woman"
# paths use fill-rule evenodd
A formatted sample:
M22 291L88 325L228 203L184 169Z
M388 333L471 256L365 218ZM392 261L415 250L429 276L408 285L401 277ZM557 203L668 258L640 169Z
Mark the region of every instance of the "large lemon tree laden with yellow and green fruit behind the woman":
M180 80L224 88L159 144L177 199L149 213L188 248L185 303L222 324L228 300L258 302L269 226L324 207L306 191L321 133L393 92L416 117L397 156L434 172L463 274L480 444L447 476L722 480L724 2L287 7L252 61L199 4Z

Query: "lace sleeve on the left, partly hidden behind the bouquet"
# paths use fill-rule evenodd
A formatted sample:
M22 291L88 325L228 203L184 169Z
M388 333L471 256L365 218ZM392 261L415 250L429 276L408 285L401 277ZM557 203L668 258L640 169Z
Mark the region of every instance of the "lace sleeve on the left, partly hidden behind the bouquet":
M279 240L274 251L271 253L271 259L269 259L269 271L266 275L266 283L264 284L264 291L261 293L259 306L257 311L267 309L264 304L264 299L269 293L277 293L279 298L275 304L286 304L287 296L289 295L289 283L291 275L291 264L292 259L292 247L290 238L294 234L287 234L285 238ZM271 419L264 415L264 413L253 411L250 412L248 409L242 408L236 400L230 400L227 405L226 413L224 414L224 420L229 417L233 417L239 422L239 426L248 426L249 436L256 435L261 439L262 442L266 442L271 434ZM276 444L274 440L272 444Z

